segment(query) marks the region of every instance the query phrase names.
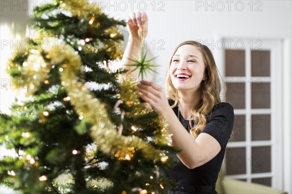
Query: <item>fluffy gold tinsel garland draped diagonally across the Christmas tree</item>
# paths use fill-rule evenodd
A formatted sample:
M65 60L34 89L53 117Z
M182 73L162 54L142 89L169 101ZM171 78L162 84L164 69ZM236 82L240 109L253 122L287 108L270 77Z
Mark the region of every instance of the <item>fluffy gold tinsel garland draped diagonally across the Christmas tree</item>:
M102 152L120 160L131 160L131 157L134 156L137 150L143 150L145 156L149 159L160 160L164 158L165 154L162 150L155 149L141 138L134 135L122 136L118 134L114 125L109 120L110 118L107 115L104 104L91 95L86 84L78 81L76 73L82 70L82 63L77 51L64 41L55 38L43 38L43 41L50 43L50 48L45 50L45 57L50 62L45 63L44 60L40 60L40 52L43 50L40 46L37 46L36 49L29 52L28 60L24 62L28 64L22 67L25 76L33 79L37 75L40 79L47 79L47 70L52 65L59 65L58 70L61 79L67 81L64 87L70 97L70 102L74 105L76 113L79 114L79 119L88 119L91 121L91 136ZM32 64L38 64L38 68L34 68ZM46 70L40 70L40 68ZM127 81L127 79L125 81L128 86L133 84ZM36 87L37 85L34 86L34 90ZM27 95L33 95L34 90L28 90ZM124 91L127 91L127 89L124 88ZM137 91L135 92L137 94ZM132 95L127 94L124 95L124 100L127 100L126 103L129 101L138 102L137 96L133 98ZM146 108L142 105L139 109L134 114L139 112L146 113ZM104 122L105 120L107 121L106 124ZM160 141L159 143L170 145L171 135L166 129L162 129L162 133L159 136L156 138L157 141Z

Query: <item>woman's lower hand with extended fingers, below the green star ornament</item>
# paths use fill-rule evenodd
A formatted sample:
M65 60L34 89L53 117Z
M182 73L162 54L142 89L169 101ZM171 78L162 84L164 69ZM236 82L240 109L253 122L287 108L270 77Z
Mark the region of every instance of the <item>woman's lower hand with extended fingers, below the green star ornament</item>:
M143 80L137 85L141 98L149 103L160 116L164 117L164 113L172 111L164 90L158 88L155 83Z

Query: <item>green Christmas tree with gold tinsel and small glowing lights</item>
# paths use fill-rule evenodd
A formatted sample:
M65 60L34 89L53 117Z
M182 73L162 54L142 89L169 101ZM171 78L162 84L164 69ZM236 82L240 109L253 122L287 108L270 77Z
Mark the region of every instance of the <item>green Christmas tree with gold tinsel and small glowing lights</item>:
M173 189L159 173L176 162L167 124L145 107L126 70L109 68L122 57L118 26L126 22L83 0L46 3L31 17L28 48L7 66L26 99L0 113L0 144L16 151L1 158L1 184L24 194Z

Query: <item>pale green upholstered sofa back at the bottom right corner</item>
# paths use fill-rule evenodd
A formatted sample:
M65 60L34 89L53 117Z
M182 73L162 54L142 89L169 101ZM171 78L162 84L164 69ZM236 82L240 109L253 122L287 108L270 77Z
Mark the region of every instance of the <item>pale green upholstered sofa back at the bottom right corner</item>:
M265 185L224 178L223 171L221 169L216 183L218 194L287 194L285 191L273 189Z

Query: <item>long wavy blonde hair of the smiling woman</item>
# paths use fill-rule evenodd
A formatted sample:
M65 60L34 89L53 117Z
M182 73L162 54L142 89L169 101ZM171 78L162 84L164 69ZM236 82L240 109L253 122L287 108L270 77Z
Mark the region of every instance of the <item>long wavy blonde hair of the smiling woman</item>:
M167 66L165 84L166 91L168 93L168 96L175 101L171 108L174 108L175 106L178 105L180 97L178 94L178 90L173 86L172 81L170 79L169 67L171 65L173 55L175 54L177 49L179 49L183 45L193 45L197 49L199 49L203 56L203 62L205 65L206 80L201 81L199 88L199 92L201 93L200 95L201 99L199 99L198 103L195 104L191 109L192 118L189 123L189 125L191 126L190 133L196 139L207 124L208 114L211 113L213 107L217 103L221 102L220 100L221 85L219 80L218 69L211 50L207 46L202 45L199 42L185 41L176 47L176 49L172 53L172 56ZM195 128L192 127L192 121L196 124Z

